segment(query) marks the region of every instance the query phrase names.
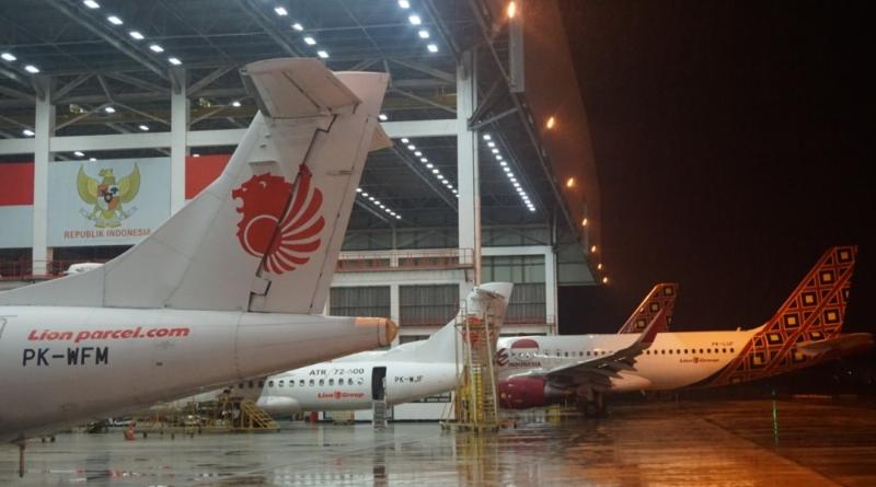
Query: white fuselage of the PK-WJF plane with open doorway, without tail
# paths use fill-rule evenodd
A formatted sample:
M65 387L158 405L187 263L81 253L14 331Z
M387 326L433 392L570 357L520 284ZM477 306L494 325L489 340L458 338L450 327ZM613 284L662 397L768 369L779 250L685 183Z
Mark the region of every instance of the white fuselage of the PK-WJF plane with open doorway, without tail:
M257 404L273 415L370 409L380 398L378 381L383 376L390 405L441 394L457 386L456 362L381 360L382 355L356 353L273 375L265 381Z

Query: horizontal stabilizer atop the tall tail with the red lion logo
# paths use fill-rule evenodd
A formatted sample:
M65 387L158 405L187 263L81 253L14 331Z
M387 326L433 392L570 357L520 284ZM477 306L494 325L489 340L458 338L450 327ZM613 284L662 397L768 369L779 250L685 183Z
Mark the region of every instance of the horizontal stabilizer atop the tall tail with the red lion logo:
M268 59L243 70L263 115L306 118L349 111L361 101L322 62L315 59ZM291 66L291 69L289 68Z

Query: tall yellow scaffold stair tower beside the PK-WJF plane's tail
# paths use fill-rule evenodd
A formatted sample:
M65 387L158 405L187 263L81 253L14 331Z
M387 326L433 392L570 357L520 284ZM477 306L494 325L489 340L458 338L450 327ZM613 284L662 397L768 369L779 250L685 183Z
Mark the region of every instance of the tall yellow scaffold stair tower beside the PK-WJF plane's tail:
M498 326L491 314L470 313L466 303L457 316L457 347L462 363L457 363L458 387L453 398L454 419L446 428L476 431L498 430L495 357Z

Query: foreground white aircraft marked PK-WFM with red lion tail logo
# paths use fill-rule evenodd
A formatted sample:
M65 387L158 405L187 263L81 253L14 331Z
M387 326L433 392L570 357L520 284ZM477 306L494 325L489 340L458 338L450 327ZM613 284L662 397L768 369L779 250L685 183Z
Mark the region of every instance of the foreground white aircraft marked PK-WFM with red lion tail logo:
M260 113L223 173L96 269L0 293L0 441L388 345L384 318L322 316L382 73L247 65Z

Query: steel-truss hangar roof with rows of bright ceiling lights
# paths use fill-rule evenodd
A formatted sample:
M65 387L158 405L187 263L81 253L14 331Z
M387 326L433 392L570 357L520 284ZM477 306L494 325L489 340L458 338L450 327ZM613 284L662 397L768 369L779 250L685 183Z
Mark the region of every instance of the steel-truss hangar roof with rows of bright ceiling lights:
M284 56L321 56L334 70L389 72L389 121L454 119L456 67L461 53L477 46L480 97L489 103L470 125L483 123L481 134L493 136L479 140L483 223L550 223L556 218L578 234L580 211L561 196L565 179L545 162L551 154L540 143L528 94L508 90L503 8L493 0L4 0L0 55L8 56L0 60L0 138L22 138L33 128L34 98L41 93L35 80L43 76L54 85L57 136L135 134L143 126L168 131L170 93L180 77L186 79L192 103L191 130L242 128L255 107L241 83L240 67ZM107 106L115 112L106 113ZM396 140L395 148L369 158L361 182L403 219L389 221L360 204L351 228L456 225L456 138L424 137L410 143L422 154ZM166 152L94 155L161 153ZM26 156L7 153L0 161ZM590 175L596 178L595 171ZM596 181L590 184L597 187ZM589 198L598 201L598 190ZM588 218L598 229L598 212Z

